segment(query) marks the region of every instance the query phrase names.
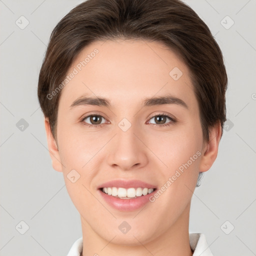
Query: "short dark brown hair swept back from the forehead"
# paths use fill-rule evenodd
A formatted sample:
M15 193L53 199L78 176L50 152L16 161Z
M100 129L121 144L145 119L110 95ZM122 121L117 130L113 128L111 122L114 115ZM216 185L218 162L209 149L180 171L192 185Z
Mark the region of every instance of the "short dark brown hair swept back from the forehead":
M73 59L88 44L107 39L146 39L174 50L191 72L203 138L226 120L227 75L221 50L207 25L180 0L87 0L55 26L40 69L38 99L56 135L61 94L47 95L62 82Z

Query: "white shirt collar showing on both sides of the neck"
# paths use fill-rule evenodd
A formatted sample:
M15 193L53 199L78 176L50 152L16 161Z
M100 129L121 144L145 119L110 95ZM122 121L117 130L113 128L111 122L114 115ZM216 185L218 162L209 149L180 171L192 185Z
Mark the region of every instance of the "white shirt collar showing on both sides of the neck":
M193 256L213 256L203 233L190 233L189 243ZM82 253L82 237L78 238L70 248L67 256L80 256Z

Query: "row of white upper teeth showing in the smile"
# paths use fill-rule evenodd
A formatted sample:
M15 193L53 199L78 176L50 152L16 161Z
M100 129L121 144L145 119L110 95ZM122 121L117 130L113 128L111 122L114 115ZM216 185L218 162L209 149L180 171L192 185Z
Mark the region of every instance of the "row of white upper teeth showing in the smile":
M137 188L123 188L123 187L103 187L102 191L108 195L112 195L119 198L136 198L141 195L150 194L153 192L153 188L137 187Z

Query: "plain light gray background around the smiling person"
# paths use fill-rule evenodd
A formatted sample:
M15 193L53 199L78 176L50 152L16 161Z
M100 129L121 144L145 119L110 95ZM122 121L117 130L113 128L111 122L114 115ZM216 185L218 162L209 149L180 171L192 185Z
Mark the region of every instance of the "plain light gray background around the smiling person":
M82 235L62 173L51 166L36 96L50 32L80 2L0 0L0 255L66 255ZM214 256L256 255L256 1L185 2L215 35L229 78L229 121L192 196L189 231L204 233ZM24 234L20 221L29 226Z

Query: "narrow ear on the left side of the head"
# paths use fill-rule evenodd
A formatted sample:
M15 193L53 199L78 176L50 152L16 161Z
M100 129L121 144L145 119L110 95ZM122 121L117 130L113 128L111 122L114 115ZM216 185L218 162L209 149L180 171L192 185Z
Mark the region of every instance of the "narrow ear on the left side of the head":
M50 153L52 167L56 171L62 171L62 164L60 161L57 144L56 144L55 139L51 133L50 123L48 121L48 118L44 118L44 126L45 126L45 131L46 131L47 144L48 144L48 150Z

